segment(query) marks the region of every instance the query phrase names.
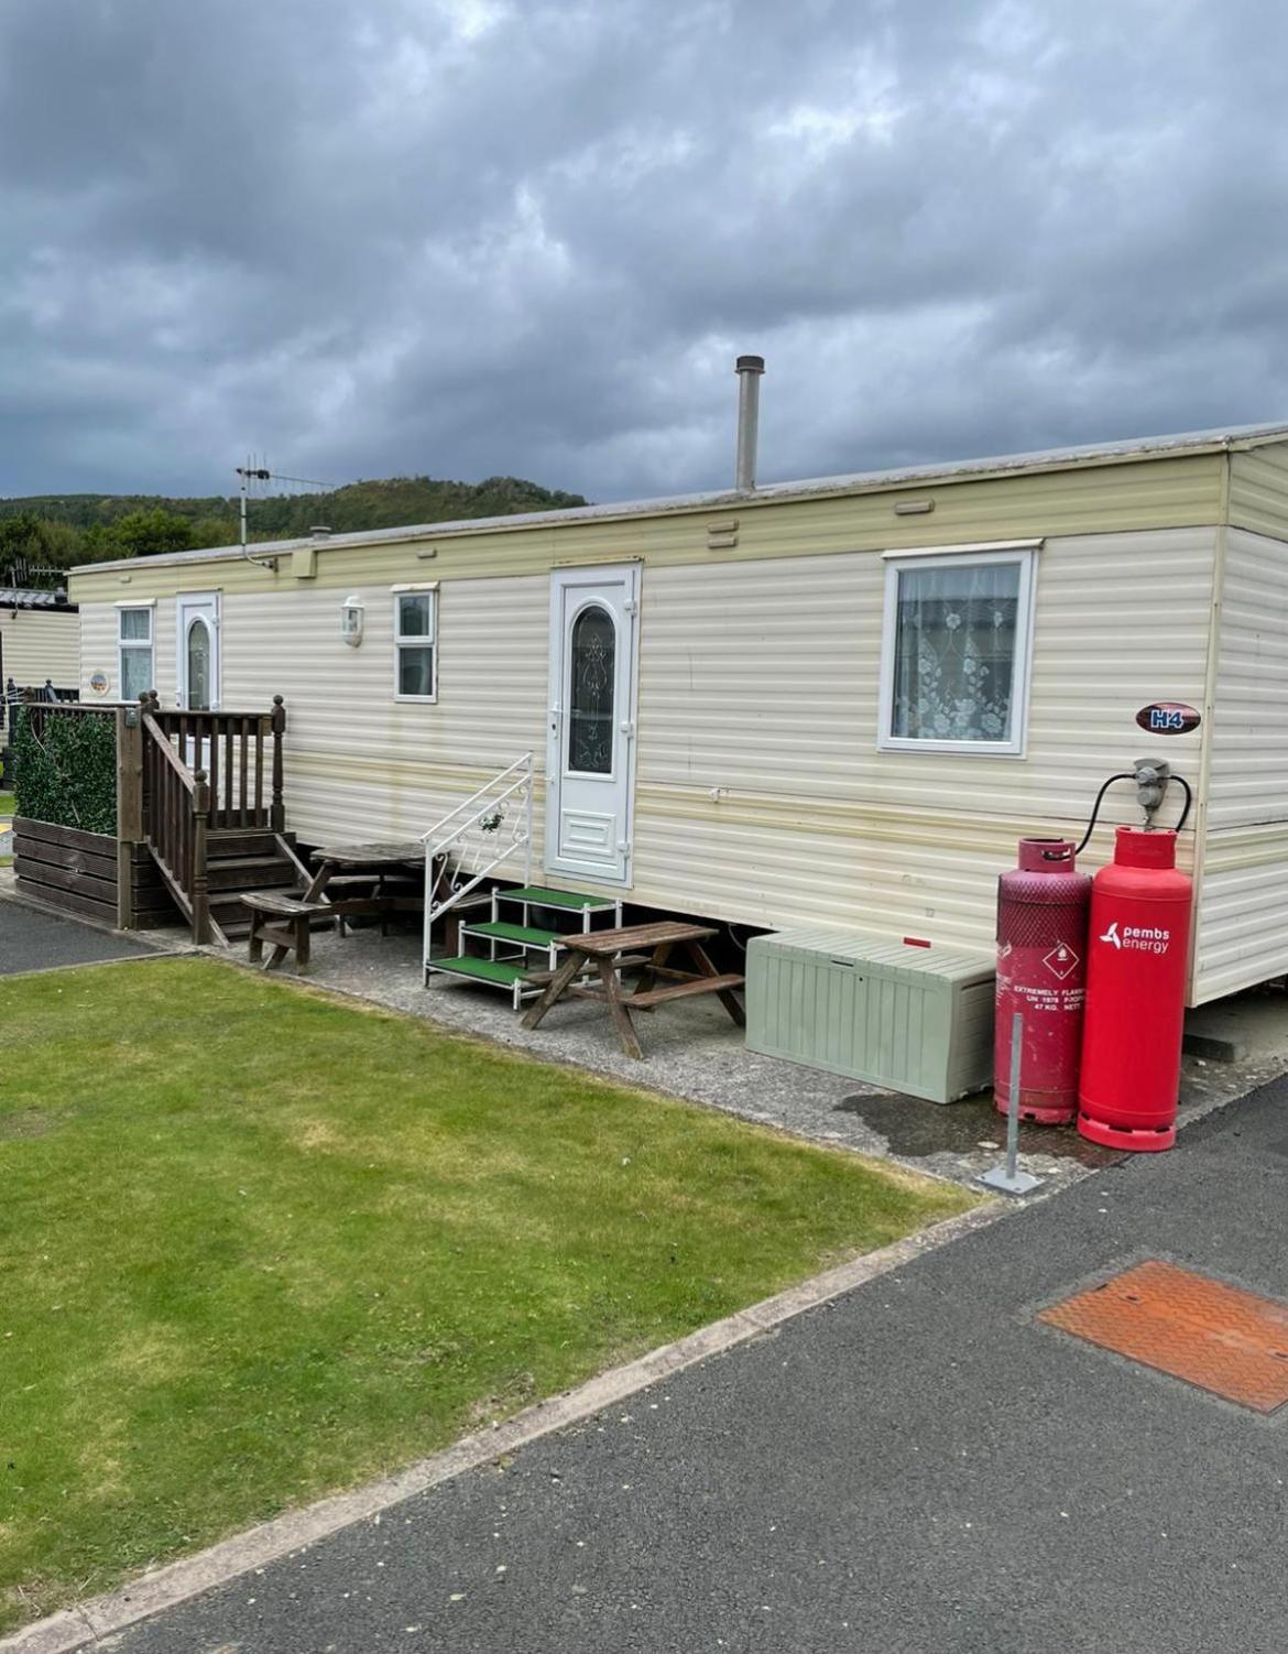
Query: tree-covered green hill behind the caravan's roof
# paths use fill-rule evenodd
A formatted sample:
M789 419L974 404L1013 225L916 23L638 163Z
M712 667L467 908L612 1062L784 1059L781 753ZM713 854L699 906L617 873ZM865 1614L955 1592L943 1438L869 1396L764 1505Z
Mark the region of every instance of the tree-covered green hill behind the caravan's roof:
M326 493L251 498L253 541L293 539L319 523L336 534L410 523L514 516L584 506L580 495L519 476L453 483L432 476L392 476L347 483ZM149 556L202 546L230 546L238 538L238 501L218 495L26 495L0 500L0 584L5 571L48 581L74 562Z

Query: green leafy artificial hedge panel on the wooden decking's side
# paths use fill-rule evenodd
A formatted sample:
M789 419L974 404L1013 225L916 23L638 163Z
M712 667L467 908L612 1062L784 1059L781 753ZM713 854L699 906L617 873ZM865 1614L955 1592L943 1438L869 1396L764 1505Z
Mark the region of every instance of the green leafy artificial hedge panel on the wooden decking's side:
M13 733L17 814L116 834L116 719L41 711L40 733L23 711Z

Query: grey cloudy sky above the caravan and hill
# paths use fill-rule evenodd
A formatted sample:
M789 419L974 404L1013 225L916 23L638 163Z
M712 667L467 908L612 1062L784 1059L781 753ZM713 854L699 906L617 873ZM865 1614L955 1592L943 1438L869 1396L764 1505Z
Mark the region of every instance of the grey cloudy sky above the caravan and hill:
M0 493L1288 417L1278 0L0 0Z

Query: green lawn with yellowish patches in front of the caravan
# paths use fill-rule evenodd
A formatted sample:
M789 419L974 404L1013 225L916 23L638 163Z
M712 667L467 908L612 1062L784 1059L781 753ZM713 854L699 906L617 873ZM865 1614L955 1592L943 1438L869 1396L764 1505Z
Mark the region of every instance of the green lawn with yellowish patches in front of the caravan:
M0 1025L0 1632L972 1204L210 959Z

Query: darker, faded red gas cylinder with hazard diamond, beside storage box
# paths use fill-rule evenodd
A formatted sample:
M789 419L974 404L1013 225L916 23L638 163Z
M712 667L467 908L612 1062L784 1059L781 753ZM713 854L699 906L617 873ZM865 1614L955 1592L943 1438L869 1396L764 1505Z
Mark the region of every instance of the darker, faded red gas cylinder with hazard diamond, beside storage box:
M1020 839L1020 865L997 882L994 1098L1010 1107L1010 1025L1023 1016L1020 1118L1058 1126L1078 1110L1091 878L1068 839Z

